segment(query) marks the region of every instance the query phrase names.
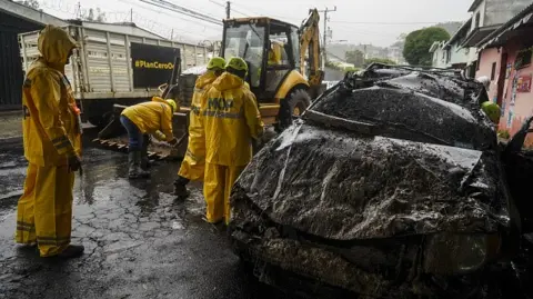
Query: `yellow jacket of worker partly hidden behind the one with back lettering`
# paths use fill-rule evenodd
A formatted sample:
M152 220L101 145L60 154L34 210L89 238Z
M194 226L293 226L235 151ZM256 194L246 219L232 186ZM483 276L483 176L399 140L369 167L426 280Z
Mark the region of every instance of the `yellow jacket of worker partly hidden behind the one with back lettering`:
M181 162L179 176L189 180L203 180L205 168L205 137L201 122L200 107L203 94L217 79L214 71L209 71L197 79L189 114L189 144Z

